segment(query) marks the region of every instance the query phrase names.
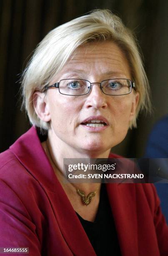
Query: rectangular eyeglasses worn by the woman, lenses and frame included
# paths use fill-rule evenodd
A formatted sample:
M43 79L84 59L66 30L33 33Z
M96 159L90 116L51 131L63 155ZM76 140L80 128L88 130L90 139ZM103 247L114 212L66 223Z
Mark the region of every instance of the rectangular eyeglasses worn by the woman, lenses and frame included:
M100 84L100 90L107 95L119 96L129 94L132 88L135 90L135 83L129 79L113 78L103 80L100 83L90 83L84 79L62 79L53 85L46 85L45 90L58 88L59 92L64 95L80 96L88 94L92 84ZM45 91L44 90L44 91Z

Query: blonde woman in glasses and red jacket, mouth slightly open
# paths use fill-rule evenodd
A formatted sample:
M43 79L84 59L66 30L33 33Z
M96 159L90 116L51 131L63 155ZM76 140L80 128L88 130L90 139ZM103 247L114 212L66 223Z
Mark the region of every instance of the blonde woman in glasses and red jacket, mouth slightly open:
M95 10L55 28L22 87L33 127L1 154L0 247L29 247L31 256L167 255L153 185L64 182L64 158L117 157L110 149L150 105L135 40L121 20ZM89 203L82 193L92 193Z

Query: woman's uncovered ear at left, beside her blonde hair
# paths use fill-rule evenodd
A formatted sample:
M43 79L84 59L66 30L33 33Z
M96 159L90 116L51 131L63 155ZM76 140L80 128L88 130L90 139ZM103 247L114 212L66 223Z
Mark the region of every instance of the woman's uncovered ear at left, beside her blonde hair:
M49 122L51 120L50 111L47 103L47 97L44 92L34 92L33 106L35 109L35 113L41 120L45 122Z

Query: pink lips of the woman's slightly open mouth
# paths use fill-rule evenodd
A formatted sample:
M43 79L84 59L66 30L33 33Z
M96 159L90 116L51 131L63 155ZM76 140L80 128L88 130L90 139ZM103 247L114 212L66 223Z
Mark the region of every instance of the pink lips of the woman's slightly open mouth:
M86 122L88 122L90 120L100 120L100 121L106 123L106 125L103 126L103 127L102 126L101 127L92 127L92 126L83 125L83 123L86 123ZM103 131L103 130L108 128L109 123L108 123L108 120L106 118L104 118L103 116L101 116L101 115L97 115L97 116L93 115L93 116L90 116L89 118L86 118L85 120L83 120L80 123L80 125L82 125L83 128L85 128L87 130L90 130L90 131Z

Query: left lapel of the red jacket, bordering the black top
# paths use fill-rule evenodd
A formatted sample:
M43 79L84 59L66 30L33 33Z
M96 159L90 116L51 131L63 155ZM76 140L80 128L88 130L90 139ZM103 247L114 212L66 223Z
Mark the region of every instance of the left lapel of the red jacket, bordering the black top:
M50 197L52 197L53 211L63 238L73 255L96 256L88 236L58 179L55 180L55 183L56 192L50 192Z

